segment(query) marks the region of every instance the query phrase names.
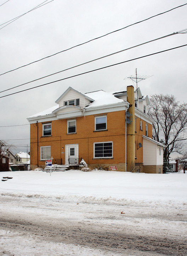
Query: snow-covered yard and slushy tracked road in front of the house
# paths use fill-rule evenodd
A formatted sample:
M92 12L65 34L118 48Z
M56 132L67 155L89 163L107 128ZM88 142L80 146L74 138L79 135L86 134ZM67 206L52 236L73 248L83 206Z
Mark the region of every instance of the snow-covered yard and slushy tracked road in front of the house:
M187 255L187 174L1 172L0 255Z

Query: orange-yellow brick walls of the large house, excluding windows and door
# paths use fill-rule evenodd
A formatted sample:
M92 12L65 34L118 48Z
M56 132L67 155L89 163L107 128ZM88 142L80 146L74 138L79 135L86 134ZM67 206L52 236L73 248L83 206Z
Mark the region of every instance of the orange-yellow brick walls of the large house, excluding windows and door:
M95 116L107 116L107 131L95 130ZM76 134L67 134L67 120L61 119L51 122L51 134L42 137L42 123L30 124L30 164L32 166L45 166L45 161L40 161L40 146L51 146L51 156L62 158L65 162L65 145L79 144L79 157L87 164L118 165L120 170L125 169L125 111L109 112L106 114L90 115L76 119ZM115 121L114 121L115 120ZM46 122L50 123L50 122ZM142 134L145 135L145 121L142 121L143 131L139 131L140 119L136 119L135 141L143 144ZM130 124L129 124L130 125ZM38 139L37 139L38 134ZM152 137L152 127L148 124L148 135ZM38 150L37 150L38 140ZM93 159L94 142L113 142L112 159ZM62 149L63 148L63 149ZM64 152L64 153L62 153ZM143 162L142 148L136 149L136 162ZM121 165L122 164L122 165Z

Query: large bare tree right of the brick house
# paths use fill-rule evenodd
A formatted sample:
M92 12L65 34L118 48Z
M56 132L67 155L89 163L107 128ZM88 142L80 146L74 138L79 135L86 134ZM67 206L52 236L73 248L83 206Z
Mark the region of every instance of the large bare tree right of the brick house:
M168 94L152 95L150 103L148 115L154 119L153 139L166 146L163 171L167 171L170 154L180 153L187 140L187 104Z

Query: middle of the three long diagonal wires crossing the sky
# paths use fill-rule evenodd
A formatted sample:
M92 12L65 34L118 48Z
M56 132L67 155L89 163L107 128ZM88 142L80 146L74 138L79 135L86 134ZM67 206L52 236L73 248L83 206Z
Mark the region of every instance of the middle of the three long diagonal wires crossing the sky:
M165 38L165 37L173 36L174 34L180 34L180 33L185 33L185 32L187 33L187 29L186 29L186 30L179 31L179 32L174 32L174 33L172 33L172 34L168 34L168 35L166 35L166 36L159 37L159 38L153 39L153 40L151 40L151 41L147 41L147 42L145 42L145 43L137 44L136 46L132 46L132 47L129 47L129 48L126 48L126 49L120 50L120 51L118 51L118 52L111 53L111 54L105 55L105 56L103 56L103 57L100 57L100 58L97 58L97 59L94 59L94 60L90 60L90 61L88 61L88 62L84 62L84 63L82 63L82 64L79 64L79 65L73 66L73 67L71 67L71 68L63 69L63 70L58 71L58 72L55 72L55 73L53 73L53 74L46 75L46 76L43 76L43 77L41 77L41 78L34 79L34 80L29 81L29 82L26 82L26 83L24 83L24 84L17 85L17 86L14 86L14 87L11 87L11 88L9 88L9 89L6 89L6 90L3 90L3 91L0 91L0 93L1 93L1 92L5 92L5 91L9 91L9 90L12 90L12 89L15 89L15 88L17 88L17 87L19 87L19 86L23 86L23 85L26 85L26 84L30 84L31 82L35 82L35 81L38 81L38 80L43 79L43 78L47 78L47 77L52 76L52 75L56 75L56 74L58 74L58 73L61 73L61 72L67 71L67 70L69 70L69 69L77 68L78 66L82 66L82 65L85 65L85 64L88 64L88 63L94 62L94 61L96 61L96 60L99 60L99 59L103 59L103 58L106 58L106 57L112 56L112 55L117 54L117 53L124 52L124 51L126 51L126 50L129 50L129 49L132 49L132 48L135 48L135 47L138 47L138 46L142 46L143 44L151 43L151 42L157 41L157 40L162 39L162 38Z

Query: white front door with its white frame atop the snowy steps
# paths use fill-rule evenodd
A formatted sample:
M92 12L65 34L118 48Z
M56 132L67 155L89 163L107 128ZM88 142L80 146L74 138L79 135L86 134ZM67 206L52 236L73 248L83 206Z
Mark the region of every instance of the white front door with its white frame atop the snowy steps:
M78 144L70 144L65 145L65 164L78 164L78 157L79 157L79 145Z

